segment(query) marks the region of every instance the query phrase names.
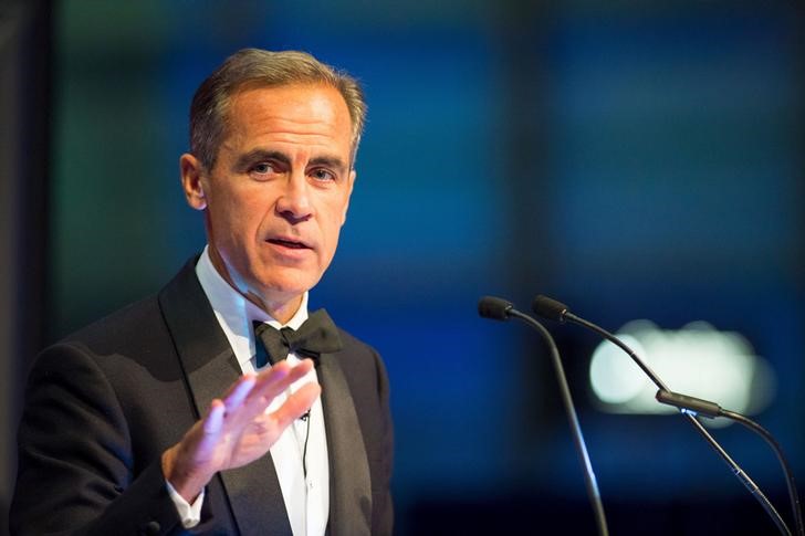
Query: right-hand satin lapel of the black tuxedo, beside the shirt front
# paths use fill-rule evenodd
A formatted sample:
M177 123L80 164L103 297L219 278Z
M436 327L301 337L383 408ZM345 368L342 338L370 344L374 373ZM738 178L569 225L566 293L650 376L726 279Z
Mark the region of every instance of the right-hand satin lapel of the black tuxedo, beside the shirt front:
M321 356L317 374L330 452L330 534L368 535L372 527L369 462L336 354Z

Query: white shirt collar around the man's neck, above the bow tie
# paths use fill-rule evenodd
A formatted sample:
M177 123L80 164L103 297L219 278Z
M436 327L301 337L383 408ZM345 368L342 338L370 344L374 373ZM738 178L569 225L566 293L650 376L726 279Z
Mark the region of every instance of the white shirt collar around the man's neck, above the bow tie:
M249 361L254 355L252 322L264 322L276 329L299 329L307 319L307 292L302 295L302 303L293 317L282 324L227 283L212 265L209 246L205 246L201 252L196 264L196 275L240 364Z

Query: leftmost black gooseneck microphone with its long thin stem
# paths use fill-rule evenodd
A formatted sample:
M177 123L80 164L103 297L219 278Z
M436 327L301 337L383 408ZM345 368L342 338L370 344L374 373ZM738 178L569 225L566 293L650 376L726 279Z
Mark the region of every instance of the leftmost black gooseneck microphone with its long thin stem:
M587 495L593 506L593 513L595 515L596 527L600 536L608 536L609 529L607 528L606 517L604 515L604 505L600 501L600 493L598 492L598 484L595 480L595 473L593 472L593 463L589 461L587 454L587 445L584 442L582 435L582 427L578 424L578 417L576 416L576 409L573 404L573 397L571 390L567 387L567 378L565 376L564 368L562 367L562 359L560 358L560 350L556 347L551 333L531 316L521 313L514 308L511 302L495 296L483 296L478 301L478 314L483 318L491 318L493 320L508 320L509 318L518 318L531 327L540 332L542 338L551 350L551 358L554 365L554 371L556 372L556 380L560 385L560 393L562 396L562 402L565 407L565 413L567 413L567 420L571 423L571 432L573 434L573 443L578 454L578 460L584 469L584 483L587 488Z

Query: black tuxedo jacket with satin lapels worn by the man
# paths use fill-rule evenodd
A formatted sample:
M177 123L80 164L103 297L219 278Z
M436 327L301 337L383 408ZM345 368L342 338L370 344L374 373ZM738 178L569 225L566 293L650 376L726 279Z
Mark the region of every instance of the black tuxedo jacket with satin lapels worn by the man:
M388 380L370 347L344 349L317 375L330 455L331 535L390 534ZM196 277L195 260L154 297L38 358L20 424L12 534L180 534L163 452L240 375ZM218 474L192 534L290 535L271 454Z

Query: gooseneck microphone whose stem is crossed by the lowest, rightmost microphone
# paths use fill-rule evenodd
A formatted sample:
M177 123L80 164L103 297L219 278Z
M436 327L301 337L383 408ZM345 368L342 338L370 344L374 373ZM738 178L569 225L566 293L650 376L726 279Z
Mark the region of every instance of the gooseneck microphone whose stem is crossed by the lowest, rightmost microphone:
M543 317L547 317L554 320L558 320L561 323L564 323L565 320L569 320L574 324L578 324L583 327L586 327L587 329L590 329L605 339L609 340L617 347L619 347L621 350L624 350L626 354L628 354L629 357L637 364L638 367L642 369L644 372L649 377L649 379L660 389L660 391L666 392L672 392L668 387L662 382L662 380L659 379L659 377L646 365L642 359L640 359L635 351L629 348L623 340L620 340L618 337L613 335L611 333L607 332L603 327L597 326L596 324L593 324L592 322L585 320L584 318L574 315L571 313L566 305L563 303L556 302L555 299L552 299L547 296L539 295L534 298L533 303L533 311ZM660 393L658 392L658 396ZM721 459L726 463L726 465L730 467L732 473L738 477L738 480L741 481L741 483L749 490L749 492L754 496L757 502L761 504L764 511L769 514L769 516L774 522L775 526L780 530L781 534L784 534L786 536L792 536L791 529L783 521L783 517L780 515L780 513L774 508L774 505L769 501L769 498L763 494L761 488L755 484L752 479L735 463L732 458L724 451L724 449L719 444L718 441L704 429L704 427L696 419L696 417L691 413L692 411L683 411L682 412L684 417L688 419L688 421L693 425L697 432L704 438L704 440L710 443L710 446L713 448L717 454L721 456ZM724 416L726 417L726 416ZM740 422L740 421L739 421ZM743 422L742 422L743 424ZM784 465L787 465L784 463ZM798 504L798 498L795 498L795 496L792 496L792 505L795 507L794 511L794 517L797 522L797 528L798 534L802 535L801 532L802 528L799 526L801 522L801 515L798 513L798 509L796 508L796 505Z

